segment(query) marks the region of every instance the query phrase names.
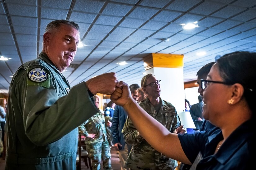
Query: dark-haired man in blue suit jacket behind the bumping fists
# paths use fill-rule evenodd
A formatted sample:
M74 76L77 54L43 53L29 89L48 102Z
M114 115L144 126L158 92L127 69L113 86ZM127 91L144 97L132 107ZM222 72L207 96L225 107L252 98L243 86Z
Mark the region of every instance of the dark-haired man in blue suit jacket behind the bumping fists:
M138 98L138 89L140 88L137 84L132 84L129 86L129 89L132 94L132 98L136 100ZM124 108L116 105L114 116L112 120L112 136L115 149L118 150L119 159L121 162L121 170L128 170L129 168L125 166L125 160L128 158L128 155L131 150L131 145L128 145L124 140L124 134L122 129L124 123L127 119L127 113L124 111Z

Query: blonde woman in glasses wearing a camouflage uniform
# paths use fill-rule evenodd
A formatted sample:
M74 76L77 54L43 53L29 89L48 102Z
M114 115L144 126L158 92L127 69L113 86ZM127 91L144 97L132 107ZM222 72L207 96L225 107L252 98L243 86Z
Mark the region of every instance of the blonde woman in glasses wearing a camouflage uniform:
M174 132L180 126L180 120L175 107L160 98L161 80L157 80L153 74L147 74L141 79L141 87L147 98L139 103L139 106L153 119L161 122L165 129ZM131 106L133 107L133 106ZM136 113L136 112L135 112ZM147 126L144 126L147 129ZM151 129L153 130L153 129ZM124 128L124 139L126 143L132 145L131 152L125 165L131 169L175 169L178 166L176 160L170 159L165 154L155 150L141 136L133 120L126 119Z

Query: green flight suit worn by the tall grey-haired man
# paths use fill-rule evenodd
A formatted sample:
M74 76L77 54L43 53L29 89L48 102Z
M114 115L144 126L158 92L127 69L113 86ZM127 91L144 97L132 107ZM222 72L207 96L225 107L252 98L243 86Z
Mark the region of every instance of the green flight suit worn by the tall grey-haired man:
M69 89L43 52L18 68L9 88L6 170L76 168L78 126L97 108L84 82Z

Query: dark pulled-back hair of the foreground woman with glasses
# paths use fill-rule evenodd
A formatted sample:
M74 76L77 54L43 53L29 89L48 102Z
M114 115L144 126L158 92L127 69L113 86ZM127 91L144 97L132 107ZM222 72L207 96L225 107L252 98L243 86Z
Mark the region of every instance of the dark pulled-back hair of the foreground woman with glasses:
M251 111L254 111L256 79L256 53L233 52L217 60L219 74L228 84L239 83L244 87L244 97Z

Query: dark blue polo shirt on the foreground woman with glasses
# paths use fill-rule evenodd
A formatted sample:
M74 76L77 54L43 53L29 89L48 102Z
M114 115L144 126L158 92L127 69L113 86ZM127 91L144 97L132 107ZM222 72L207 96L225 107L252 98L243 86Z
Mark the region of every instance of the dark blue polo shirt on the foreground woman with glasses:
M202 158L196 169L250 169L253 164L255 140L253 121L241 124L222 144L216 154L218 142L223 139L222 131L213 128L195 134L178 134L182 149L191 163L200 152Z

